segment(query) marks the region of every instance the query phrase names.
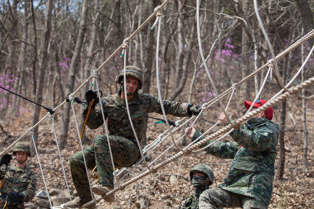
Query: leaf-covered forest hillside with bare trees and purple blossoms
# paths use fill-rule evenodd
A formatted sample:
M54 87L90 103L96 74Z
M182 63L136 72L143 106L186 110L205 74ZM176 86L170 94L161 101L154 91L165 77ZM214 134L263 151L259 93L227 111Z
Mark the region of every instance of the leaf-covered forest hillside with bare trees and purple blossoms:
M120 88L117 77L124 65L142 69L140 93L158 97L159 89L162 99L210 104L195 123L201 132L217 123L226 107L230 118L240 118L246 113L244 100L253 101L257 95L271 100L284 86L296 86L314 76L314 38L310 38L314 35L313 5L314 0L1 1L0 152L12 152L9 146L19 139L30 142L35 154L27 133L33 128L39 158L32 157L28 165L37 174L37 190L44 189L38 160L47 186L66 190L52 121L73 192L68 158L76 152L85 107L66 102L66 98L85 101L84 92L98 87L104 96L116 93ZM157 12L160 22L154 22ZM298 44L286 50L295 43ZM313 94L311 85L298 94L290 92L287 99L273 106L273 122L279 124L280 133L269 208L314 208ZM51 120L47 110L52 109L55 112ZM165 119L154 113L148 116ZM171 121L180 119L167 117ZM165 123L155 122L146 118L142 147L167 130ZM148 163L168 149L173 140L181 138L191 123L176 131L174 139L166 138L146 158ZM219 123L210 133L222 127ZM90 146L99 134L105 134L104 126L86 128L83 147ZM229 136L222 140L232 141ZM182 137L177 145L182 149L189 142ZM178 152L172 147L153 164ZM231 162L204 152L182 156L116 192L113 204L101 201L97 206L176 208L193 192L188 171L194 165L210 165L215 174L213 186L217 186L224 181ZM121 182L132 179L144 168L142 163L130 173L124 172Z

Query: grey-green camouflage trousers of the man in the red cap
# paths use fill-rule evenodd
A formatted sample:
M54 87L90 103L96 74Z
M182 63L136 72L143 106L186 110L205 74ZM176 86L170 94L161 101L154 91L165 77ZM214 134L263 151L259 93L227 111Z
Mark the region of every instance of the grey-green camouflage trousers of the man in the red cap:
M267 206L252 197L239 195L219 187L203 191L199 197L199 209L216 209L218 207L267 209Z

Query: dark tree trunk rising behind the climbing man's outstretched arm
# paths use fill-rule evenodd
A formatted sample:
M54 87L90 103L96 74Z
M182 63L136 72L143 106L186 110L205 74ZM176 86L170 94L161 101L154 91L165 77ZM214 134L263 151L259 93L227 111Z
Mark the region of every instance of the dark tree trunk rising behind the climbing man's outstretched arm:
M158 6L158 1L153 0L152 4L152 9ZM155 18L154 18L155 19ZM147 29L147 39L146 39L146 45L145 45L145 63L144 63L144 70L143 70L143 76L144 76L144 83L143 83L143 88L142 92L143 93L149 93L149 88L150 88L150 77L152 75L152 68L153 68L153 63L156 63L156 60L154 62L154 31L151 30L150 28ZM141 140L141 146L146 146L147 145L147 139L146 139L146 131L147 131L147 123L148 123L148 118L144 119L144 127L143 127L143 136Z

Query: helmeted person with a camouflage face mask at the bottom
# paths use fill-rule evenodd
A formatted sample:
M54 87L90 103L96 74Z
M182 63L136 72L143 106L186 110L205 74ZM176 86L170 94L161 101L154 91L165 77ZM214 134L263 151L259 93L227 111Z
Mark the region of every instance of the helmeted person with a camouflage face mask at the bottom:
M203 175L195 175L195 171ZM198 209L199 196L213 184L214 172L208 165L195 165L192 170L190 170L190 181L195 187L194 194L187 196L178 209Z

